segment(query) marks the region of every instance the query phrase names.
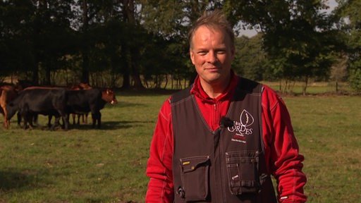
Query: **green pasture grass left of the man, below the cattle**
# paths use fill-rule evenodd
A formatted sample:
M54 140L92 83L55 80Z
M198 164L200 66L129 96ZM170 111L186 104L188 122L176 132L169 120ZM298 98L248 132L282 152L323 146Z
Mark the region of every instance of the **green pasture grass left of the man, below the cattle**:
M0 130L0 202L143 202L149 142L167 96L122 94L102 109L101 130L23 130L13 118Z

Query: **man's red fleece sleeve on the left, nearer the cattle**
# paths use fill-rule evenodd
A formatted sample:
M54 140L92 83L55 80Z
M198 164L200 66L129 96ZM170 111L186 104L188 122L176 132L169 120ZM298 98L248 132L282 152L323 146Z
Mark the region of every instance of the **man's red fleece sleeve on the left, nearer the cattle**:
M164 101L154 128L149 148L146 174L149 177L145 202L173 202L173 135L171 105Z

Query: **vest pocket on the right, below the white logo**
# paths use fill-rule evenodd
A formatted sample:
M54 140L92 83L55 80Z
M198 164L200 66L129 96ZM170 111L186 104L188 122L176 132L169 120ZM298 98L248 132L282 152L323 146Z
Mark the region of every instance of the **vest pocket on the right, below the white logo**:
M232 195L258 192L258 152L226 152L228 186Z

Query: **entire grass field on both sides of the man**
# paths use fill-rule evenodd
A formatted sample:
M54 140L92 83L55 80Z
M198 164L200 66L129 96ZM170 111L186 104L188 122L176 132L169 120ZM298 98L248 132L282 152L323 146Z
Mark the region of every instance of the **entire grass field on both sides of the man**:
M101 130L23 130L13 119L0 129L0 202L144 202L149 142L166 97L118 92ZM361 97L283 99L305 156L308 202L359 202Z

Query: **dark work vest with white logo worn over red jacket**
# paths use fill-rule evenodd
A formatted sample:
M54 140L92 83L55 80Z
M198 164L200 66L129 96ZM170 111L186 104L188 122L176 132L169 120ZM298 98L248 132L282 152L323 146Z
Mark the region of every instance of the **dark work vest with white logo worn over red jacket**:
M264 160L262 85L240 78L216 130L190 88L171 97L174 201L276 202Z

